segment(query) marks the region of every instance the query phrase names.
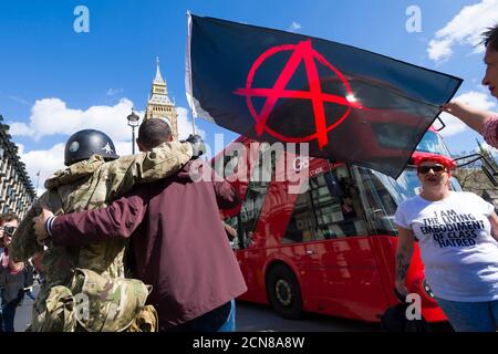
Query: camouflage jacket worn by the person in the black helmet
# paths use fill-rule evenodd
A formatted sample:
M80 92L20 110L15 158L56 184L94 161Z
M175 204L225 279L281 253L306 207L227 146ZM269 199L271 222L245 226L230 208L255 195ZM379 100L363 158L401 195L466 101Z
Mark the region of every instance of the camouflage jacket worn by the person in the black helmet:
M147 154L129 155L105 163L98 155L56 171L45 181L48 189L38 199L19 225L10 248L15 260L27 260L35 252L43 252L45 272L43 294L55 285L71 283L75 268L90 269L112 278L124 277L123 256L125 241L111 240L80 248L49 246L43 249L37 242L32 218L48 207L55 215L105 207L135 184L167 177L178 170L191 157L189 143L170 142Z

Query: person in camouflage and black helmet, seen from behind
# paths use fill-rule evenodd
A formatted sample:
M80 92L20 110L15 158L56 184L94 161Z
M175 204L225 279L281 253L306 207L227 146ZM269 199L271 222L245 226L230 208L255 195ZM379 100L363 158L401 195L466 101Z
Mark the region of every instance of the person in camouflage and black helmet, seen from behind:
M83 132L103 134L90 129ZM56 171L45 181L46 191L33 204L19 225L10 249L14 260L27 260L37 252L42 252L45 282L33 305L32 331L74 331L76 324L87 331L125 330L138 314L148 294L147 288L142 282L124 280L123 257L126 248L124 240L111 240L79 248L51 244L43 247L37 242L33 217L38 216L42 208L59 215L105 207L113 199L131 190L135 184L172 175L193 156L190 143L168 142L146 154L117 158L114 145L105 134L102 146L89 149L85 145L87 137L80 140L74 138L81 136L81 133L74 134L68 140L65 163L70 166ZM95 143L95 138L93 142ZM85 149L89 150L86 155ZM97 154L93 154L94 152ZM72 164L71 156L76 156L79 160ZM106 162L113 158L117 159ZM91 308L90 311L94 311L90 313L90 317L93 315L92 319L89 319L87 312L77 319L72 311L75 305L77 306L74 296L79 293L85 295L82 301L100 299L97 306L106 309ZM129 304L126 303L136 303L137 306L128 309ZM106 312L105 315L102 315L101 310ZM103 319L95 321L98 316ZM83 320L80 321L81 319Z

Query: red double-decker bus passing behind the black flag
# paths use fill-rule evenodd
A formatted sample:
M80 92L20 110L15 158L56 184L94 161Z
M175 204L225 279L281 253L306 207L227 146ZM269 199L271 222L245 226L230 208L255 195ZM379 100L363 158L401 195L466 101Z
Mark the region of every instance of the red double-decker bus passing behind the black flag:
M243 196L241 207L224 216L236 231L231 244L248 285L240 300L271 304L290 319L310 311L380 321L384 311L398 302L393 291L397 242L394 214L400 202L418 191L415 167L408 164L395 180L372 169L311 158L309 179L301 181L308 188L295 192L295 181L274 168L281 158L292 160L289 153L266 158L271 149L261 148L241 158L234 146L250 150L255 142L239 137L234 143L212 163L215 167L237 165L238 173L243 165L242 175L248 177L235 181ZM414 155L425 153L449 156L440 136L432 129ZM264 159L272 164L262 166ZM268 178L255 178L262 175ZM452 185L461 190L456 179ZM422 314L427 321L446 320L425 281L417 246L406 285L421 295Z

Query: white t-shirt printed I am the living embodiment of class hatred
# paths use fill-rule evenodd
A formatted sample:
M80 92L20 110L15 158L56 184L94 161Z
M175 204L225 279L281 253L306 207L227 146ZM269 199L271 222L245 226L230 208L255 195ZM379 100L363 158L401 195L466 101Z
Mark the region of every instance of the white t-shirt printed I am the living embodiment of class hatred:
M498 300L498 242L488 217L495 207L467 191L443 200L421 196L400 205L395 222L418 239L427 282L450 301Z

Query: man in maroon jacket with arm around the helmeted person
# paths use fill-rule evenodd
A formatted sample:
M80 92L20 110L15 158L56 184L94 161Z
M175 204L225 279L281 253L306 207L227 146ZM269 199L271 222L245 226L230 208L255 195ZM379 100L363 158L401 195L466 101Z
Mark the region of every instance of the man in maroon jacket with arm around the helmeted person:
M149 150L169 139L169 125L153 118L142 124L137 145ZM44 211L43 219L35 218L37 233L55 246L131 237L135 275L153 285L148 302L162 331L234 331L234 299L247 288L219 208L234 208L239 199L227 181L194 183L191 165L136 186L107 208L58 217Z

